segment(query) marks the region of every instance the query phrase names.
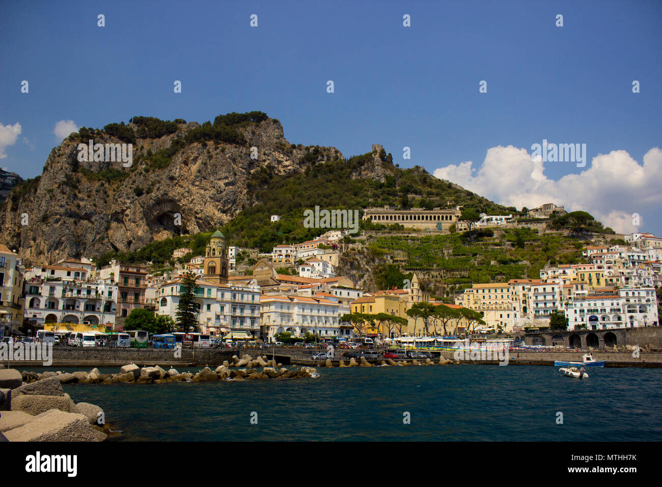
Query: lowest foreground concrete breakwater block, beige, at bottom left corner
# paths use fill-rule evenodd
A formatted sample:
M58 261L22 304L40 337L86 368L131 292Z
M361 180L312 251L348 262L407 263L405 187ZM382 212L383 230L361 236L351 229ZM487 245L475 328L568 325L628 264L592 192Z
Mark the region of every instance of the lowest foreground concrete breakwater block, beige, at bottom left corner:
M103 441L106 438L105 433L92 429L84 415L56 409L4 434L9 441Z

